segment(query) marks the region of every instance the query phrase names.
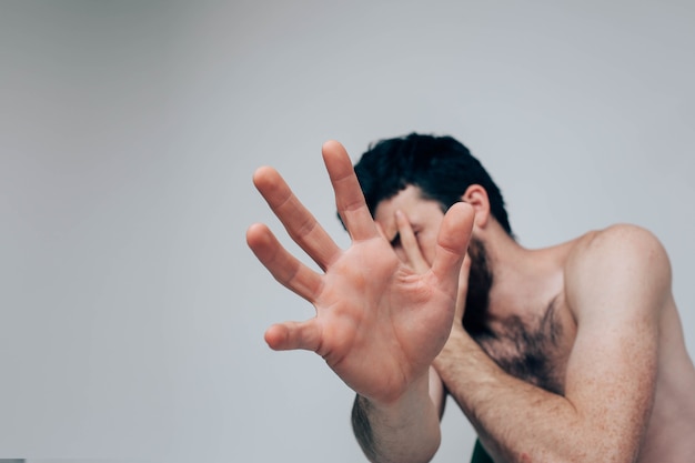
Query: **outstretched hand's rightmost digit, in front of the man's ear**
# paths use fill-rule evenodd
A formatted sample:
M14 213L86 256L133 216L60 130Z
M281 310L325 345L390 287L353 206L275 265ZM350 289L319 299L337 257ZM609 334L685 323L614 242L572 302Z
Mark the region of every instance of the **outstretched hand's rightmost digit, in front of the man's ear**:
M443 282L457 284L461 264L473 231L474 215L473 208L464 202L455 203L444 215L432 262L432 272Z

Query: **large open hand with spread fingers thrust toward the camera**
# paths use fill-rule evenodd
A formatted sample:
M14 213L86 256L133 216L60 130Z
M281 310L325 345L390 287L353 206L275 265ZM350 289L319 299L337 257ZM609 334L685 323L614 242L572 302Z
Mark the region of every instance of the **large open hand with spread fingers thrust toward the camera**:
M377 232L343 147L325 143L323 159L352 238L348 250L335 244L275 170L254 174L289 234L324 271L302 264L268 227L249 229L246 241L263 265L316 309L311 320L272 325L265 340L275 350L314 351L359 394L392 401L426 374L446 342L473 210L463 203L449 210L432 268L419 274Z

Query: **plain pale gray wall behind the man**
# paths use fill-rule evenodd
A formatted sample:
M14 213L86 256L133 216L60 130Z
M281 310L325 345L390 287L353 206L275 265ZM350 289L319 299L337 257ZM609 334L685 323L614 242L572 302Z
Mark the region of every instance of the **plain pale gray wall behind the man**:
M326 139L457 137L532 248L653 230L695 352L695 7L560 3L0 3L0 456L362 461L244 241L272 164L346 244Z

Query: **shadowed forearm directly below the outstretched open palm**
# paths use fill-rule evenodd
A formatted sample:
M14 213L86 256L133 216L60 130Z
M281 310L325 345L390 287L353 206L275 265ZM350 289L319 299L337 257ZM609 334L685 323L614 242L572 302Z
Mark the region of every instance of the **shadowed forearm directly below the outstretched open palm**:
M371 462L429 462L441 440L439 413L429 395L426 375L393 403L357 395L352 425Z

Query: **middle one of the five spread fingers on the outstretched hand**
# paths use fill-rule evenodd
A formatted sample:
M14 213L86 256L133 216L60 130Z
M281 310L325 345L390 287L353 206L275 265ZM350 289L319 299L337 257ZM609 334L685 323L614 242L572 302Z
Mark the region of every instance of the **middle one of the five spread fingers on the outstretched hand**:
M253 183L288 233L322 270L340 253L340 248L292 193L282 177L272 168L260 168Z

